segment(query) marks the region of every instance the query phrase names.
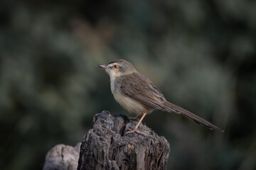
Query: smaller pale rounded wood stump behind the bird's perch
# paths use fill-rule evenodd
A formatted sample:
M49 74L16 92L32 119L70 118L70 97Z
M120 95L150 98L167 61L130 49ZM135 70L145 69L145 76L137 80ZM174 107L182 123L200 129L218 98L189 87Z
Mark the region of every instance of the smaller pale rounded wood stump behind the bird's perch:
M75 147L56 145L46 154L43 170L75 170L78 168L78 158L81 143Z

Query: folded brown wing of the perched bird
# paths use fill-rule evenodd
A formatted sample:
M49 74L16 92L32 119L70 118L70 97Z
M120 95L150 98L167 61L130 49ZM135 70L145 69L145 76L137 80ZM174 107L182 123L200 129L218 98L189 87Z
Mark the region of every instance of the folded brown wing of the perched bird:
M134 72L116 79L117 89L135 101L144 103L151 108L165 111L164 98L161 91L152 82L139 72Z

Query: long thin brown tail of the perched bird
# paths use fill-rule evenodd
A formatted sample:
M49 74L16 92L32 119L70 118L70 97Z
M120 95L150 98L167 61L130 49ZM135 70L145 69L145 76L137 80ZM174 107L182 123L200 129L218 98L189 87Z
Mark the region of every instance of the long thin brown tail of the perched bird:
M210 130L219 130L220 132L224 132L224 130L218 128L217 126L213 125L213 123L209 123L207 120L204 120L203 118L200 118L198 115L195 115L191 113L190 111L186 111L185 109L178 107L174 105L173 103L170 103L168 101L164 102L166 111L170 112L173 111L175 113L181 114L189 118L190 120L193 120L195 123L198 123L199 125L203 125L204 127L210 129Z

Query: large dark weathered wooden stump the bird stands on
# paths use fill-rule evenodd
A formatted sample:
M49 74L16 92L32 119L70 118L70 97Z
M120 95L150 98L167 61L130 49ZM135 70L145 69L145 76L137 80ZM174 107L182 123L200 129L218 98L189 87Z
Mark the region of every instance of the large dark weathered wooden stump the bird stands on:
M154 131L139 125L144 135L132 133L137 121L109 111L93 118L92 129L82 140L78 170L82 169L166 169L169 142Z

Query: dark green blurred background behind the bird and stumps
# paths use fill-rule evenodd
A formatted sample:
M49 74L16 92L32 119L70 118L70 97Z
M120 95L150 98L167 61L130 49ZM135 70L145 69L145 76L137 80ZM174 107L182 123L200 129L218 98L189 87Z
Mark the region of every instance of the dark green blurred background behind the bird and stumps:
M0 169L42 169L103 110L127 113L96 64L122 58L171 103L154 111L169 169L256 169L256 1L0 1Z

